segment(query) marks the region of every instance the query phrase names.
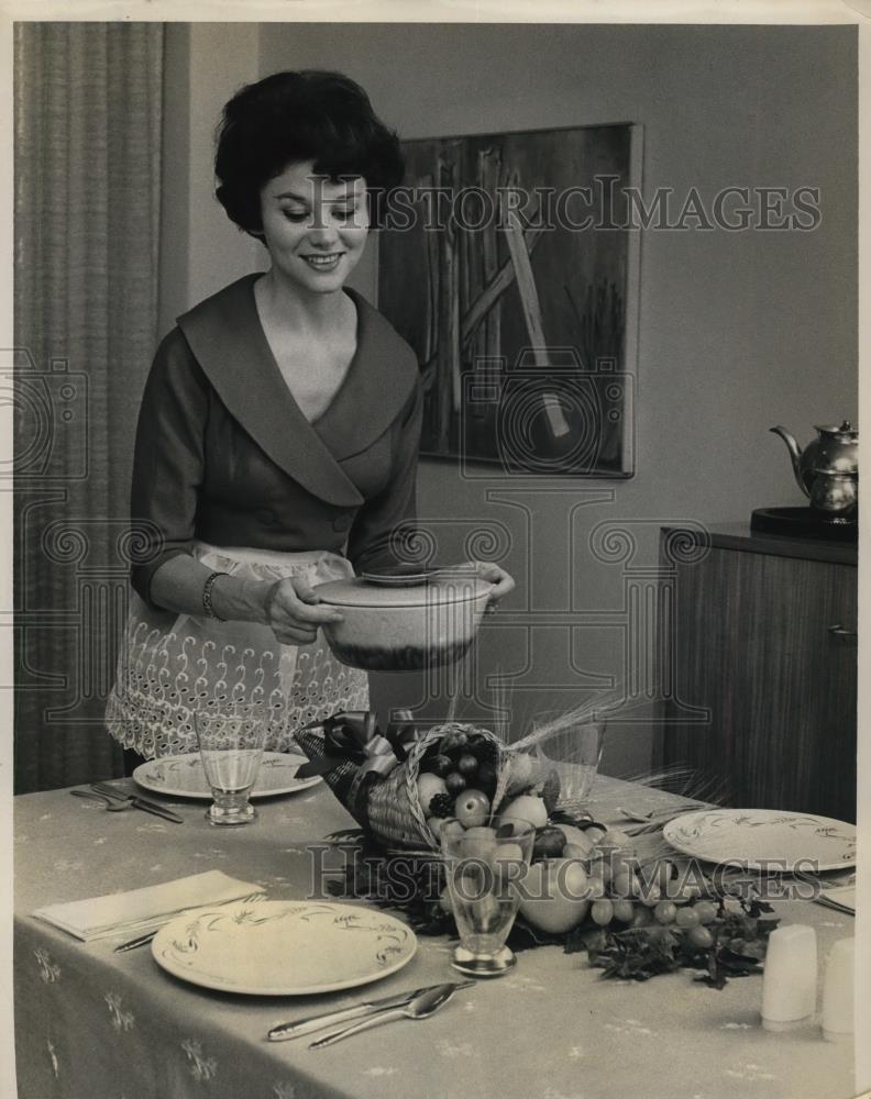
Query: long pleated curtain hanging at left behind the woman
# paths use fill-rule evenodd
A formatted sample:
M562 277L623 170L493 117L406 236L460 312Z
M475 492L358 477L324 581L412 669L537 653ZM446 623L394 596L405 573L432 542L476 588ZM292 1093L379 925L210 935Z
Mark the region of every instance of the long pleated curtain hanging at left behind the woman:
M102 723L157 329L159 23L18 23L15 789L121 773Z

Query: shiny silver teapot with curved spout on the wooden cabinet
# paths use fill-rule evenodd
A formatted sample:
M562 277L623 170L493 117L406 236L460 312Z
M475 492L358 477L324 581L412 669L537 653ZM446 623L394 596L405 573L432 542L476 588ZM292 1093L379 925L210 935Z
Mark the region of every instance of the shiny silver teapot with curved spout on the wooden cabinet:
M771 428L790 451L795 480L820 518L853 522L859 503L859 432L849 420L839 428L816 426L817 437L802 449L785 428Z

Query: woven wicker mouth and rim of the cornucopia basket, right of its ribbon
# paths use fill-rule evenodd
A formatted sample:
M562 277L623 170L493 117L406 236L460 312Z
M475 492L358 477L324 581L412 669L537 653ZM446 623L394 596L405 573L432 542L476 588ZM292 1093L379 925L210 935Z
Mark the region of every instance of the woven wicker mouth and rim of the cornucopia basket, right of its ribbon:
M370 790L368 824L382 843L400 847L420 847L425 844L427 847L438 848L439 841L427 826L427 818L418 798L417 780L427 748L433 741L455 731L481 733L494 741L499 747L498 767L501 768L505 745L495 733L460 722L434 725L414 743L406 762L386 778L375 782Z

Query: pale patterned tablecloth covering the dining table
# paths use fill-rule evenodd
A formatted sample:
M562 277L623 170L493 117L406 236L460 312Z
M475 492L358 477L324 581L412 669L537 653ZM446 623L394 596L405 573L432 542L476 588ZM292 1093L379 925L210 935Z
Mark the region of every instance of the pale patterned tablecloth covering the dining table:
M132 779L113 780L133 791ZM211 826L207 802L154 800L184 823L56 789L14 799L14 1029L19 1099L850 1099L853 1050L818 1015L776 1033L760 1020L762 977L713 988L688 969L646 981L604 978L584 953L518 952L516 967L459 990L426 1020L403 1019L327 1048L271 1042L271 1028L372 997L462 979L453 943L417 952L375 985L323 995L217 991L172 976L150 946L82 942L34 918L57 902L220 869L269 899L319 888L312 850L354 822L324 785L256 802L255 822ZM599 775L596 820L682 799ZM313 845L313 847L312 847ZM361 903L349 901L349 903ZM847 912L774 901L782 924L812 926L820 967L853 934ZM400 913L401 918L401 913ZM275 965L288 964L276 958ZM317 1035L316 1035L317 1036Z

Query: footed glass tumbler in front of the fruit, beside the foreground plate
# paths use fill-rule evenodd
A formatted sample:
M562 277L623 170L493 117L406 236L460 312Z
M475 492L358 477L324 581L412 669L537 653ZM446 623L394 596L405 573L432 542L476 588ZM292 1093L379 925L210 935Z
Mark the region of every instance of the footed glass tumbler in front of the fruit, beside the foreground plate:
M517 964L505 945L520 904L536 829L528 821L464 829L445 821L440 833L448 895L460 933L451 965L474 977L497 977Z

